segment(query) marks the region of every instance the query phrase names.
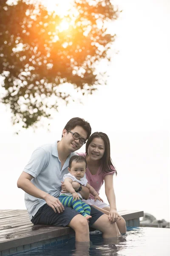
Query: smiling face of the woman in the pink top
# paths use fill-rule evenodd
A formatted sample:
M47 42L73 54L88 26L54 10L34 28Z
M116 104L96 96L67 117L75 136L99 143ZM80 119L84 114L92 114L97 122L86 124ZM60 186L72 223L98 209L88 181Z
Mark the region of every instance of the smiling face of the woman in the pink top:
M94 138L88 146L88 156L91 160L100 160L105 153L105 143L101 138Z

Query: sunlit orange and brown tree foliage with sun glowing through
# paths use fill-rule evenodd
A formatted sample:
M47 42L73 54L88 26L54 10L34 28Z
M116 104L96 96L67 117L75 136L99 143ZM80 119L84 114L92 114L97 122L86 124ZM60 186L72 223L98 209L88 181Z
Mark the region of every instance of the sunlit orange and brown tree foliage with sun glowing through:
M10 106L14 124L28 128L57 110L60 99L69 102L61 84L92 93L105 82L95 65L110 61L115 35L107 33L106 23L118 12L110 0L74 0L73 8L76 12L61 17L23 0L0 1L1 102Z

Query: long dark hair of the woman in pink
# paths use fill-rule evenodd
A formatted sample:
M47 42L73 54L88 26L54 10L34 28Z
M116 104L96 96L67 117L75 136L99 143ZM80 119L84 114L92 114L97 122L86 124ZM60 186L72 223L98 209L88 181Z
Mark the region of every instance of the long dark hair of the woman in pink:
M103 154L103 157L100 160L102 163L102 172L103 173L113 172L113 169L116 171L111 160L111 146L110 146L110 140L107 134L99 131L96 131L93 134L91 134L88 141L86 142L86 146L85 146L86 154L88 155L88 147L92 142L92 140L94 140L94 138L101 138L105 143L105 152ZM113 167L113 169L111 169L111 166ZM117 172L115 173L117 175Z

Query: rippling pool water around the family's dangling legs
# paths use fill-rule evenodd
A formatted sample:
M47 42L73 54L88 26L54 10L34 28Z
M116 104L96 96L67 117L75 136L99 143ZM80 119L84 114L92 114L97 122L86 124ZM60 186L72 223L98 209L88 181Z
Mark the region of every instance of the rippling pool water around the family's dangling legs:
M77 244L71 238L63 244L18 253L17 256L170 256L168 228L127 228L127 233L117 239L105 240L99 233L92 234L90 240L89 246L86 243Z

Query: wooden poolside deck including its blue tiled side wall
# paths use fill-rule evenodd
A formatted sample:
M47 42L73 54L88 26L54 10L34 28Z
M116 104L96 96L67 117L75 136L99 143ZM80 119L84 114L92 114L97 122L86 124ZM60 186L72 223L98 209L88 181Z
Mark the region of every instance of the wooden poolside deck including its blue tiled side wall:
M143 211L119 211L127 227L139 227ZM32 250L73 236L69 227L33 225L26 210L0 210L0 256Z

